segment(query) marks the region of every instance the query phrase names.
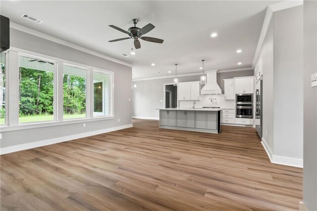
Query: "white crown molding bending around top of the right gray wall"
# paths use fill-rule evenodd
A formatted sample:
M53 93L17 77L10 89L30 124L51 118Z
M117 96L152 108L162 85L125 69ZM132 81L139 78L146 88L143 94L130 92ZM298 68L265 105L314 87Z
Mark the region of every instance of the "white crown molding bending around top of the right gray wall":
M264 18L264 22L263 22L263 26L262 26L262 30L261 30L259 42L258 42L258 46L256 49L256 53L254 55L254 58L253 58L253 62L252 62L253 69L254 69L256 62L259 58L259 55L260 55L260 52L262 49L262 45L263 45L263 42L265 39L265 35L267 33L268 25L269 25L269 22L271 21L273 12L283 10L283 9L288 9L288 8L295 7L295 6L300 6L300 5L303 5L303 0L285 0L285 1L277 2L277 3L274 3L274 4L267 6L266 14L265 14L265 18Z

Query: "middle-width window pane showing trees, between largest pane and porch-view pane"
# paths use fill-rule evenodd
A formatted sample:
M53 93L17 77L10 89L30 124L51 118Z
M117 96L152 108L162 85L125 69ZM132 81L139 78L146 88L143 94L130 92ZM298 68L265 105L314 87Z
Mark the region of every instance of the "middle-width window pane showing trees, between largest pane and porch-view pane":
M64 119L86 117L86 70L64 66Z

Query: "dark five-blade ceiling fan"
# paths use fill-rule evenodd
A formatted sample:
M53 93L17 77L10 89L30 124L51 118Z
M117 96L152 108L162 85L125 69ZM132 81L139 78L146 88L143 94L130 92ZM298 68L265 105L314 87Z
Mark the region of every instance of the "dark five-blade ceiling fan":
M158 38L154 38L154 37L143 37L143 35L145 35L146 33L150 32L152 29L155 28L154 25L152 25L151 23L149 23L148 25L144 26L143 28L139 28L136 27L136 24L138 23L138 19L133 19L132 23L134 24L134 26L130 27L128 29L128 31L125 31L123 29L120 29L117 26L114 25L109 25L111 28L114 28L120 32L123 32L127 35L129 35L130 37L127 38L120 38L120 39L116 39L116 40L110 40L109 42L117 42L117 41L121 41L121 40L127 40L127 39L133 39L133 43L134 43L134 47L135 49L140 49L141 48L141 43L139 41L139 39L141 40L145 40L148 42L152 42L152 43L163 43L164 40L158 39Z

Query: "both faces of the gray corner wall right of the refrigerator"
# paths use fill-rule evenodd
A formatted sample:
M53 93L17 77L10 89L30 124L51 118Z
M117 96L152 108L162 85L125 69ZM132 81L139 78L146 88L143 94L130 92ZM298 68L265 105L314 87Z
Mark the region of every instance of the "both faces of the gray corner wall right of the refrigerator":
M256 62L255 73L261 66L263 72L263 139L273 162L303 159L301 31L303 6L274 12Z

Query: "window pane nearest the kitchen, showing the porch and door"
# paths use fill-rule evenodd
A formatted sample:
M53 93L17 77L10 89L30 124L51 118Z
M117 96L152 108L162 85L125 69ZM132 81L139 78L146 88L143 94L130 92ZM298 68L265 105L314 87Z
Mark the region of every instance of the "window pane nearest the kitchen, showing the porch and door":
M109 103L109 75L94 72L94 116L108 116Z

